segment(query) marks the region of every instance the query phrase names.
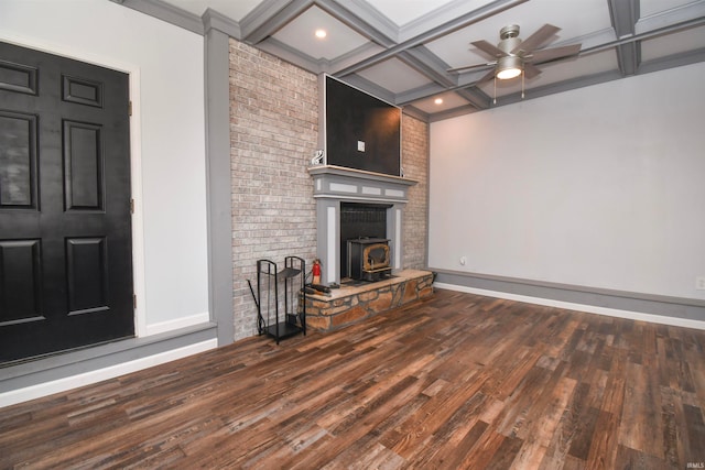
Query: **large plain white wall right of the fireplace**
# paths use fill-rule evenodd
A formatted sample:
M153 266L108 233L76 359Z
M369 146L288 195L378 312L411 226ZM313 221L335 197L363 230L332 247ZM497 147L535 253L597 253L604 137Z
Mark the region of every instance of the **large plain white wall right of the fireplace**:
M705 298L703 77L695 64L433 123L430 266Z

